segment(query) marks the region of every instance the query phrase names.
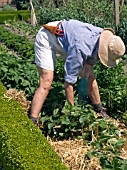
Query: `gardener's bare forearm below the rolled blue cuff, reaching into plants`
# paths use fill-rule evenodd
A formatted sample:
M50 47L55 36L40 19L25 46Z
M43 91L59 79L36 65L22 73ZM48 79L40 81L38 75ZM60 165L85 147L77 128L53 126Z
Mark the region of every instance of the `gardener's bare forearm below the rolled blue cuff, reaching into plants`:
M68 82L64 82L64 87L65 87L65 94L67 100L74 105L74 90L73 90L73 85L69 84Z

